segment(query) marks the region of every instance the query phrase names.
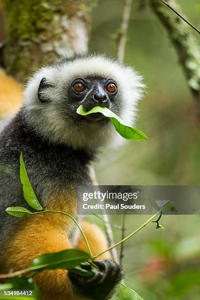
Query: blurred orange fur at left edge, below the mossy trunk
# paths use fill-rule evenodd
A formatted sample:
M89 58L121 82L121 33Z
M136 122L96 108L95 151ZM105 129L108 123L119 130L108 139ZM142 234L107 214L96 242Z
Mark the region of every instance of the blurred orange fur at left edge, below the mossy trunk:
M23 101L20 83L0 69L0 120L19 111Z

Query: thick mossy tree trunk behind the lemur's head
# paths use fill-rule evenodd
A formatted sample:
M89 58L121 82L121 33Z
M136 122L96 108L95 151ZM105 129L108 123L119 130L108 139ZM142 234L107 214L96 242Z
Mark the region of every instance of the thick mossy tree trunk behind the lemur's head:
M43 64L87 51L93 0L3 0L8 74L25 82Z

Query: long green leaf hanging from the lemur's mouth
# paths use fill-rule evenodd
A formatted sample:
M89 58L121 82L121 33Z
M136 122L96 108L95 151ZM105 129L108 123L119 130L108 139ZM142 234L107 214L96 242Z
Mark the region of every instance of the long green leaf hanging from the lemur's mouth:
M86 111L85 108L82 105L80 105L77 108L76 113L81 116L86 116L94 113L101 113L105 117L110 118L117 132L126 140L148 140L148 137L142 131L125 125L124 121L120 119L114 112L109 110L107 107L95 106L91 110Z

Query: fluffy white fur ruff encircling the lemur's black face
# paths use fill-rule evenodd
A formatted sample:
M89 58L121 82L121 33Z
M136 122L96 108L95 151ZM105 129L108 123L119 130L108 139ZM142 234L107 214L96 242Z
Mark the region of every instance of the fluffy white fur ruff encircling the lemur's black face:
M99 76L112 78L118 84L118 98L122 101L120 117L127 125L133 125L136 117L136 105L142 96L144 85L141 76L104 55L77 57L58 65L43 67L28 82L25 88L24 106L27 120L42 137L54 143L66 143L74 148L94 149L104 146L115 139L112 144L119 144L124 139L116 133L113 125L100 126L85 124L75 126L69 119L63 118L58 109L63 96L63 87L69 86L76 77ZM50 88L50 103L42 103L37 96L41 79L45 77L55 84Z

